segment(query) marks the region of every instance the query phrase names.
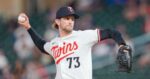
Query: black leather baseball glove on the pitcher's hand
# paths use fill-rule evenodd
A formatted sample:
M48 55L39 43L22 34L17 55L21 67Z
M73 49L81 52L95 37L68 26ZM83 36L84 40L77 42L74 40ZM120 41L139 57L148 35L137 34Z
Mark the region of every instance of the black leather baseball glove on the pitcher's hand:
M118 71L130 72L132 69L132 49L130 46L121 46L117 54Z

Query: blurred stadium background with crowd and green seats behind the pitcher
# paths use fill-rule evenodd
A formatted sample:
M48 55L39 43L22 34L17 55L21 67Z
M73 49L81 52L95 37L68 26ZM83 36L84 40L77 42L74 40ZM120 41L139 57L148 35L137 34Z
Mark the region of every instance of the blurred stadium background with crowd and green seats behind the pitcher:
M25 12L32 27L47 41L56 10L72 6L81 16L75 29L120 31L133 52L133 71L117 72L116 44L106 40L93 47L93 79L150 79L150 0L0 0L0 79L54 79L52 57L43 55L17 24Z

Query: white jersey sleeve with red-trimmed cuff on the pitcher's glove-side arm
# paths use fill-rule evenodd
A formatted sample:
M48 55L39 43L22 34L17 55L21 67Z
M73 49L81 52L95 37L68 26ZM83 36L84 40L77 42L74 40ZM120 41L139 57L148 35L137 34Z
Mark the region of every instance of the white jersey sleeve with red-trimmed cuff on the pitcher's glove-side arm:
M95 30L85 30L83 33L81 33L83 36L83 39L85 42L94 45L98 42L100 42L100 32L99 29Z

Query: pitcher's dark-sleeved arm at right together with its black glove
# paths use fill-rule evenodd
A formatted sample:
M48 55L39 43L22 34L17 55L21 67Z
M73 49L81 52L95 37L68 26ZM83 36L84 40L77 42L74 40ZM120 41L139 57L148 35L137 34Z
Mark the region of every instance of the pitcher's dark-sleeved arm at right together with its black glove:
M132 70L132 49L130 46L126 45L120 32L111 29L104 29L100 30L100 35L100 40L111 38L118 43L119 49L116 59L118 64L118 71L129 73Z

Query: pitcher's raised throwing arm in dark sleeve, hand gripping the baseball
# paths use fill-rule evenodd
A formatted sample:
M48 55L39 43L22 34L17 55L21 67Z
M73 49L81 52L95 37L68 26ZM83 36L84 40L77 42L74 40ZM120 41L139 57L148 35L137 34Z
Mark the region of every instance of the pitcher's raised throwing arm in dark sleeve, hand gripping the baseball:
M32 38L32 40L33 40L33 42L34 42L34 44L41 50L42 53L48 54L48 53L44 50L44 44L46 43L46 41L43 40L43 39L34 31L33 28L31 28L31 25L30 25L30 23L29 23L29 19L28 19L27 15L24 14L24 13L21 13L19 16L22 16L23 18L25 18L24 21L23 21L23 20L20 21L20 20L18 19L18 23L28 31L28 33L30 34L30 36L31 36L31 38Z

